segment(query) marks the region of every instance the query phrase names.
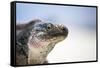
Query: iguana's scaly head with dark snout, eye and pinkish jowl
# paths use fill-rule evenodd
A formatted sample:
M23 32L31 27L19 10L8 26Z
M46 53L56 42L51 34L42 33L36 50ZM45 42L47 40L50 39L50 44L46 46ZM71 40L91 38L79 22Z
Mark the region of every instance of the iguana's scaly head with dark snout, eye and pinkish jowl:
M41 46L52 47L56 43L64 40L67 35L68 29L64 25L39 22L32 26L29 44L37 48Z

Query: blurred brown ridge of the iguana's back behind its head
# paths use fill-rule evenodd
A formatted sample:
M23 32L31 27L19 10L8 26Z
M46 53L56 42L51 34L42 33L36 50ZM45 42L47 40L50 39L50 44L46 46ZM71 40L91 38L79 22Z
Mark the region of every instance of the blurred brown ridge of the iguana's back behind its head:
M23 30L33 26L35 23L41 22L39 19L32 20L25 24L16 24L16 30Z

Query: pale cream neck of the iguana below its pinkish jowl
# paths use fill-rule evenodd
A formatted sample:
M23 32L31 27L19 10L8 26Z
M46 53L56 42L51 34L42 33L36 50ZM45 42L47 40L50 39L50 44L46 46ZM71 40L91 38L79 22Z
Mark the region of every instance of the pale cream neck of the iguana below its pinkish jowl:
M28 64L43 64L54 45L34 39L28 42L28 47Z

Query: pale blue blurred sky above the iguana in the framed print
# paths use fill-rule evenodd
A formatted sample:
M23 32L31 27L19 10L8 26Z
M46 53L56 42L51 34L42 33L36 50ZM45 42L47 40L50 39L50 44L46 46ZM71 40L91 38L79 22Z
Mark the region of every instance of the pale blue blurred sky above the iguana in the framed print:
M42 19L53 23L95 27L96 8L43 4L17 3L16 21L28 22L32 19Z

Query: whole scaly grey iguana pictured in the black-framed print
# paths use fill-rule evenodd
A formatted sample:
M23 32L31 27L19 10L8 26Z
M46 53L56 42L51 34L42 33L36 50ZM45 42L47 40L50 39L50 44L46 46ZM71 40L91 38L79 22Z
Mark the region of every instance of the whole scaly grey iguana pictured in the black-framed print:
M16 30L16 65L47 63L46 58L55 44L68 35L65 26L41 20L17 24Z

